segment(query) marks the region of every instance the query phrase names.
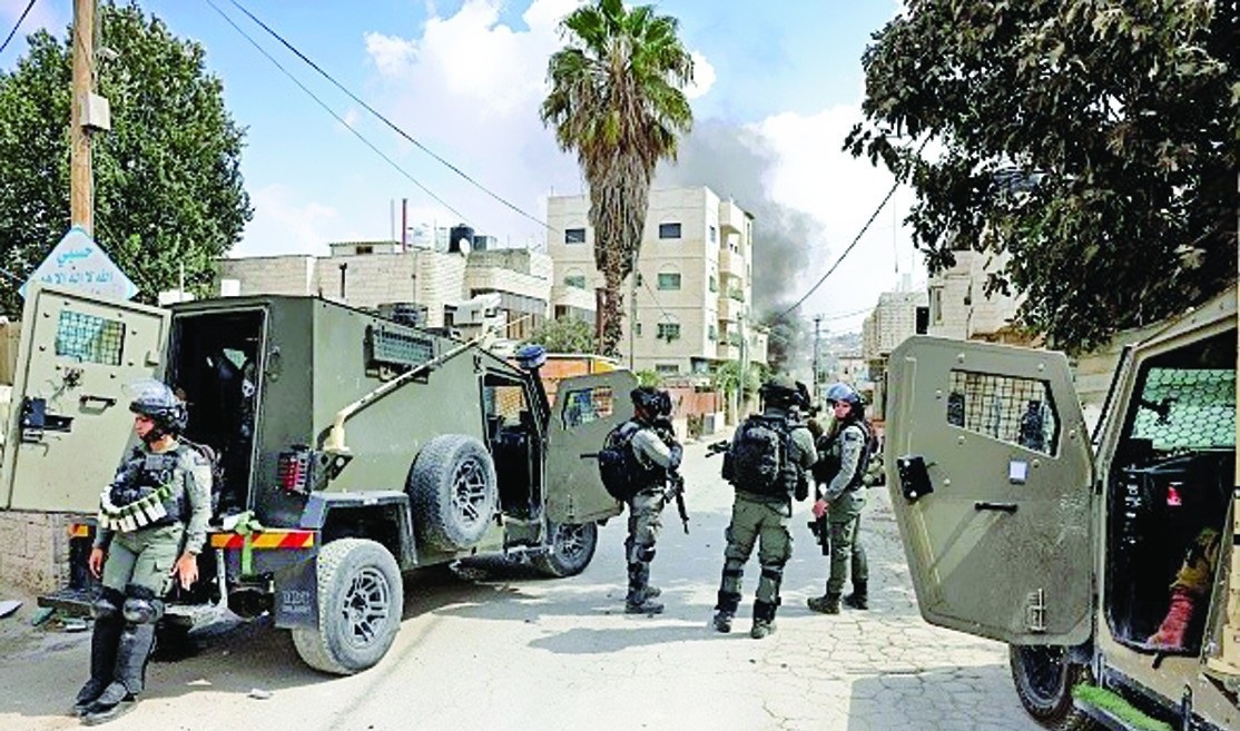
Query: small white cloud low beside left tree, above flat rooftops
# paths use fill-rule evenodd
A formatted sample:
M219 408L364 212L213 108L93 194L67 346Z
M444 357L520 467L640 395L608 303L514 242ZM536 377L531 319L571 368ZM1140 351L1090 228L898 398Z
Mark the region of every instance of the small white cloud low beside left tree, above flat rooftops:
M229 256L274 256L278 254L327 254L327 242L352 237L331 206L295 199L291 188L272 185L250 196L254 218L244 238Z

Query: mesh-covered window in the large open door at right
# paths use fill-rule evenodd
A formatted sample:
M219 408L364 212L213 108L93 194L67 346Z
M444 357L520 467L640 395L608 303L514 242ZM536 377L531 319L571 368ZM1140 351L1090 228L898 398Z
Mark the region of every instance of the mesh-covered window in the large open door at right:
M947 422L1044 455L1054 455L1059 415L1045 382L951 372Z

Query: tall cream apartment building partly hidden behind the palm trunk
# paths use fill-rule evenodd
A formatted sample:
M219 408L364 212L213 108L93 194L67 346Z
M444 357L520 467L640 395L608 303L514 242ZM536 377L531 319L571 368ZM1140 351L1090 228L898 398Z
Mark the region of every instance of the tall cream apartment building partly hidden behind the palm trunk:
M604 284L594 264L588 212L587 196L547 201L547 222L556 232L547 244L556 312L584 309ZM755 327L751 310L753 224L735 202L707 187L650 192L637 278L624 286L622 362L663 375L706 374L714 364L743 357L766 362L768 333Z

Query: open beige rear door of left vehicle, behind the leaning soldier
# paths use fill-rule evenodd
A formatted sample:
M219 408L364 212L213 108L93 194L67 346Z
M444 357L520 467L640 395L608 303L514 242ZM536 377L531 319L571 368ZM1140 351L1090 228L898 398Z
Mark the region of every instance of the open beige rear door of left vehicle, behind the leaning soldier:
M32 282L0 507L93 513L133 436L125 385L157 377L170 313Z

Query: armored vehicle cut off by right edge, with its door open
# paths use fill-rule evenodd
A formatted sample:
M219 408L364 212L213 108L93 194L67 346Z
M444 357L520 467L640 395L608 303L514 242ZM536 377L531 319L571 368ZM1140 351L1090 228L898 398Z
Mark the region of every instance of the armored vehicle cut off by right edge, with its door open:
M1008 643L1052 729L1240 729L1236 290L1120 359L1092 435L1061 353L914 337L887 472L921 615Z

